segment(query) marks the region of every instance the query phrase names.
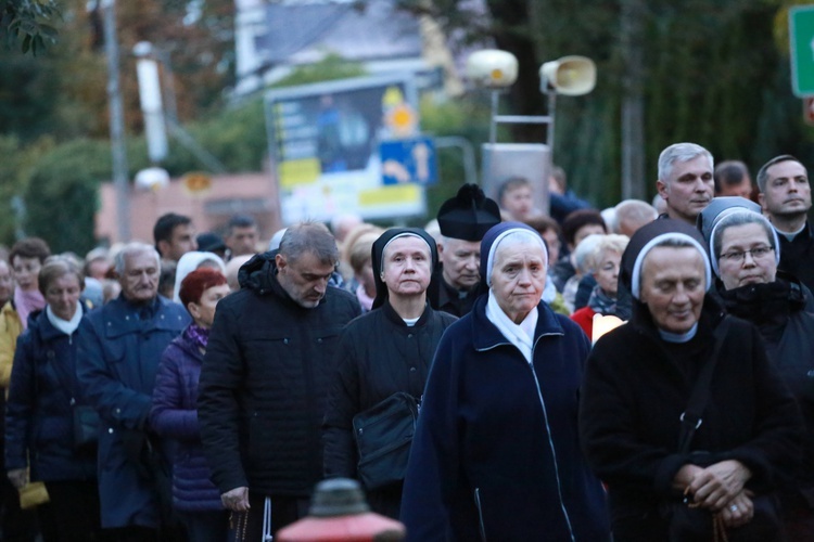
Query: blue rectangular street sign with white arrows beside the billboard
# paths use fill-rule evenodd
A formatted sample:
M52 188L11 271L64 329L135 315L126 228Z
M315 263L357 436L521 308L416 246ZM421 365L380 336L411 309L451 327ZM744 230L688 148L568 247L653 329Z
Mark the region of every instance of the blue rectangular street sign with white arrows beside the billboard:
M438 182L438 159L432 138L382 141L379 144L382 182L428 185Z

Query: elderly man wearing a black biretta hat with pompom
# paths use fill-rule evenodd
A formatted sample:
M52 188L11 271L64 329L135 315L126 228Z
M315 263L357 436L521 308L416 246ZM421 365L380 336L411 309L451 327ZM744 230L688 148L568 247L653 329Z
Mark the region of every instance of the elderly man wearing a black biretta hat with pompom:
M480 288L481 240L500 223L500 208L476 184L465 184L438 209L441 238L435 280L427 297L435 310L458 318L472 309Z

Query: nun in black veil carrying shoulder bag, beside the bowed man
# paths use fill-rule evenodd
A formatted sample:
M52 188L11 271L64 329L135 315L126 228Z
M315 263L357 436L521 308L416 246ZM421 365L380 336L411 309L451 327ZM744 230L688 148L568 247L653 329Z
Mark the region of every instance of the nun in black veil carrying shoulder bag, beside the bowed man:
M372 310L342 332L325 421L326 477L359 478L353 418L396 392L420 400L435 347L457 320L433 310L427 288L438 256L418 228L385 231L372 248ZM364 483L363 483L364 487ZM402 481L365 487L373 512L398 518Z

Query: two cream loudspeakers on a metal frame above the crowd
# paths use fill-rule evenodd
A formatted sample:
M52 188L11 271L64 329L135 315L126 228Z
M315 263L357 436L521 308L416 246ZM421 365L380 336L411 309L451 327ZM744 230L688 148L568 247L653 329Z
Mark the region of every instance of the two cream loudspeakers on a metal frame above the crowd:
M517 80L518 61L497 49L472 53L467 61L467 77L475 86L492 91L489 142L483 145L484 190L496 195L499 184L510 177L524 177L532 183L535 207L548 210L548 176L554 151L557 94L583 95L596 86L596 65L586 56L569 55L546 62L539 68L540 92L548 98L548 115L499 115L500 93ZM498 143L497 125L533 124L546 126L546 142Z

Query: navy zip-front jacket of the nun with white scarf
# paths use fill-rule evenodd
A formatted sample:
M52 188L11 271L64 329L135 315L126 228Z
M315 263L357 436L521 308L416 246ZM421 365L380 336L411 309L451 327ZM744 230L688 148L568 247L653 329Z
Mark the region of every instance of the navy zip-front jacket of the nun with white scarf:
M587 337L542 302L530 364L486 301L447 330L430 370L402 502L408 540L608 540L577 435Z

